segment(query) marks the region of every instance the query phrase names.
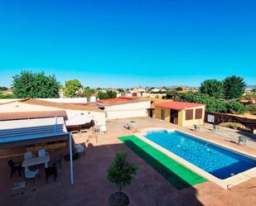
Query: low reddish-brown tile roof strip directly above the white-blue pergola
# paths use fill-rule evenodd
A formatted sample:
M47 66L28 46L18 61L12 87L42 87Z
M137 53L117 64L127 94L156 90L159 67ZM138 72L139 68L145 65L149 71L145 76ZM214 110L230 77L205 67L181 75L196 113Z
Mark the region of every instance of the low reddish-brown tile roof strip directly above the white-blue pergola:
M65 117L67 114L65 110L56 111L36 111L36 112L22 112L22 113L0 113L0 121L3 120L16 120L28 118L45 118L45 117Z

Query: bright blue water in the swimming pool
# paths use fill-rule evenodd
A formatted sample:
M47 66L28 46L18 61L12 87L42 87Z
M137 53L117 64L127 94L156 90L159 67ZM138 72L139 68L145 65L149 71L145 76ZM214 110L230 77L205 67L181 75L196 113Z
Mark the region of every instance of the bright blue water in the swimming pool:
M145 137L222 180L256 166L255 159L183 132L147 132Z

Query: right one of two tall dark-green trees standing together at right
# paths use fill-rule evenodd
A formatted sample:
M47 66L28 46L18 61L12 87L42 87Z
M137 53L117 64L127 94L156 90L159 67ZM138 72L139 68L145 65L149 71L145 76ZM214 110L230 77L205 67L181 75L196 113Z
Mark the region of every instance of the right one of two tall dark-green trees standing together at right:
M225 98L240 98L244 89L246 88L246 84L244 83L244 78L233 75L224 79L224 89L225 89Z

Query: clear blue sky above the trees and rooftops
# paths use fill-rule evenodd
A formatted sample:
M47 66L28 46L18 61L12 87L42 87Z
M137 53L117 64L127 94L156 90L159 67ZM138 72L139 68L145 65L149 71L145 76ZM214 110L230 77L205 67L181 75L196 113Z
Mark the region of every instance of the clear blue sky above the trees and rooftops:
M255 0L1 1L0 85L22 69L91 87L256 84Z

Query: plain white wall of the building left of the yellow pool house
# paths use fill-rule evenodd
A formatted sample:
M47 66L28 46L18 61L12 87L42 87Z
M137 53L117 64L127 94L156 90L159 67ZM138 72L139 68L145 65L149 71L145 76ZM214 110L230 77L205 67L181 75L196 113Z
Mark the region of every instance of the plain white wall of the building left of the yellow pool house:
M106 106L106 118L118 119L129 117L147 117L147 108L150 107L150 101L138 103L122 103L118 105Z

